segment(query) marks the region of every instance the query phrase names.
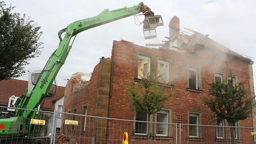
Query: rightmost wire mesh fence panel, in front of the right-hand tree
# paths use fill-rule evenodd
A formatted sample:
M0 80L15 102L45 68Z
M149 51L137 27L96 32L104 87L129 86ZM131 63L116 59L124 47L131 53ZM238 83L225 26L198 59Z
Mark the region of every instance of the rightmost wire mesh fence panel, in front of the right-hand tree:
M252 144L256 130L252 127L230 127L213 125L181 124L180 144L183 143L230 143L230 129L234 128L236 143Z

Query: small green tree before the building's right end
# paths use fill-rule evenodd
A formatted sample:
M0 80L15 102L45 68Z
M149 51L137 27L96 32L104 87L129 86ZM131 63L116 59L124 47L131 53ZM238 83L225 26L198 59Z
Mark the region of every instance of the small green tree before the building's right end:
M210 85L208 94L209 98L204 97L202 100L214 112L216 120L226 119L229 126L235 126L239 120L248 118L255 106L255 98L248 97L244 89L244 82L234 86L235 76L230 73L230 80L216 80L208 83ZM236 143L235 127L230 127L231 142Z

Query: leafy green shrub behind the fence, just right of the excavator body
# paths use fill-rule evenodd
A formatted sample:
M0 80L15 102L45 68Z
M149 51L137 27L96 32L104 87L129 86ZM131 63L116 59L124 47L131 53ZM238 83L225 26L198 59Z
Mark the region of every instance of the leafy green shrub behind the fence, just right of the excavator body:
M44 132L44 136L47 134L48 122L50 116L47 114L41 114L41 120L45 120L45 125L34 124L32 130L29 132L29 136L31 137L40 137Z

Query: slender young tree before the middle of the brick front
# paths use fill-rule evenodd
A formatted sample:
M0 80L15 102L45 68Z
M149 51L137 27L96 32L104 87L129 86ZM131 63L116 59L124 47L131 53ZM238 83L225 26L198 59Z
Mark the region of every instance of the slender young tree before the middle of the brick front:
M128 86L124 85L126 93L130 96L127 100L130 102L130 108L140 113L147 113L148 120L150 115L156 114L166 106L165 101L169 100L174 92L168 94L165 86L158 86L158 78L154 80L155 69L150 70L146 75L141 69L143 76L141 81L135 84L134 77ZM148 125L148 144L149 144L149 123Z

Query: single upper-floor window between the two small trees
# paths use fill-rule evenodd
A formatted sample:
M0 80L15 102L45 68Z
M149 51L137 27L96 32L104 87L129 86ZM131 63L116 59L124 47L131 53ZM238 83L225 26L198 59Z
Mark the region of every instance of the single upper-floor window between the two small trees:
M200 73L197 67L188 67L188 88L200 90Z

